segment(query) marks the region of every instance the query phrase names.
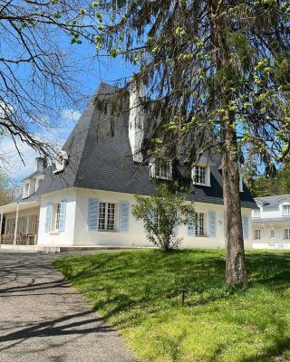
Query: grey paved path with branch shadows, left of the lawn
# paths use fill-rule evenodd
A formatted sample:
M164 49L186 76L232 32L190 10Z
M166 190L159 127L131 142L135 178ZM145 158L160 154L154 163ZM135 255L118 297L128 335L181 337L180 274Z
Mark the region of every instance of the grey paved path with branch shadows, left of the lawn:
M53 269L54 258L0 252L0 361L132 362L118 332Z

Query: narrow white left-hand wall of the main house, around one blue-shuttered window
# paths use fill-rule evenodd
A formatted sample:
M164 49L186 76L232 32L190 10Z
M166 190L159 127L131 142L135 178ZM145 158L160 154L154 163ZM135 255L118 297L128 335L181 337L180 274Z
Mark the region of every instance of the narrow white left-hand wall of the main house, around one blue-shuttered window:
M58 204L66 200L65 229L64 232L50 231L45 232L46 205L49 203ZM73 188L63 189L61 191L43 195L41 198L39 227L38 227L38 244L39 245L57 245L73 246L74 229L75 229L75 205L76 193Z

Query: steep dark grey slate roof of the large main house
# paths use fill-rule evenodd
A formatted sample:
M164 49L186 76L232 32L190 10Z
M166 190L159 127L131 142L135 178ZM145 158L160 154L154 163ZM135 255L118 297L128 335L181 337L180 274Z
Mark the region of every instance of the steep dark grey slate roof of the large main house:
M128 194L152 195L154 182L150 180L149 167L136 165L131 155L128 137L128 111L114 120L114 134L111 136L110 115L94 105L94 99L110 100L116 88L101 83L81 119L63 145L70 156L70 162L62 173L53 174L52 167L46 169L46 176L34 196L47 194L68 187L82 187ZM223 204L222 178L216 166L211 167L211 187L195 186L189 199L208 204ZM241 205L256 208L256 203L245 187Z

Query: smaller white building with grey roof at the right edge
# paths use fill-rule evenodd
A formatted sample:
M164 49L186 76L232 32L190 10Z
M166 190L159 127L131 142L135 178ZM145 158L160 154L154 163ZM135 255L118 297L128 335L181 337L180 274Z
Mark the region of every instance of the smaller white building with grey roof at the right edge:
M256 198L254 249L290 249L290 195Z

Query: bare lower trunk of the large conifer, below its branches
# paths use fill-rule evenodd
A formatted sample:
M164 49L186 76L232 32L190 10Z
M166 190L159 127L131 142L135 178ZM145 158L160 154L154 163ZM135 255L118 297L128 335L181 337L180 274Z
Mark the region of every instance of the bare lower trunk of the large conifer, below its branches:
M234 115L224 120L222 147L222 175L226 228L226 281L230 286L246 285L244 237L239 195L237 135Z

